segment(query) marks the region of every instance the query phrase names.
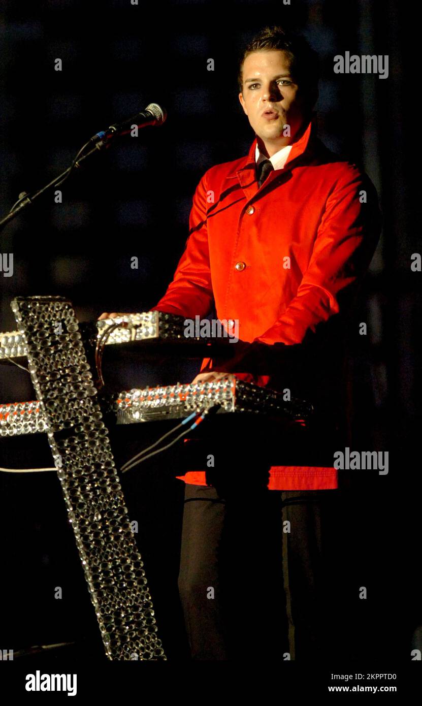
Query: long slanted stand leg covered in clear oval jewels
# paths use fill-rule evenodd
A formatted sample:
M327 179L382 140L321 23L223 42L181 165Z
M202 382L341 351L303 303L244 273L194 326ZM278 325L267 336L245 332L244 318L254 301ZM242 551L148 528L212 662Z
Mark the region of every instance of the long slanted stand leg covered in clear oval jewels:
M107 657L166 659L72 306L17 297L12 309Z

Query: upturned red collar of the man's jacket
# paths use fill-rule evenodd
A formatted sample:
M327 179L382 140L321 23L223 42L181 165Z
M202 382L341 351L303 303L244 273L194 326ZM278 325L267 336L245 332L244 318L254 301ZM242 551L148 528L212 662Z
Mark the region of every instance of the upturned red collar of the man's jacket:
M308 122L308 125L301 133L301 136L299 136L299 139L293 143L289 153L289 157L287 157L287 161L284 164L284 169L275 169L275 171L270 172L267 179L265 179L265 186L270 184L270 181L272 181L272 179L277 178L280 173L289 171L289 169L293 166L293 163L296 162L296 160L301 157L304 152L311 152L312 144L316 138L316 131L316 113L313 112L311 120ZM255 193L257 193L257 191L259 190L255 169L255 148L257 142L258 138L255 135L255 139L253 140L251 148L249 149L248 155L244 157L243 162L241 162L240 166L236 169L235 173L227 175L227 178L229 179L233 179L236 177L239 179L239 184L241 185L241 188L243 189L243 192L245 193L245 196L248 199L255 196Z

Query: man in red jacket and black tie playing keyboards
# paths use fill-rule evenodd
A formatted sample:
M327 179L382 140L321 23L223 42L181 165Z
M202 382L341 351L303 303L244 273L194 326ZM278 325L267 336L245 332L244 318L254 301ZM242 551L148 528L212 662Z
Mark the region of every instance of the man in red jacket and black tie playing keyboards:
M378 198L315 135L318 57L303 38L260 32L239 90L255 139L200 179L186 249L154 308L202 318L215 306L238 322L239 354L205 359L195 381L230 372L288 389L313 402L317 422L264 438L263 424L227 420L205 437L215 464L184 477L179 592L193 659L315 659L335 652L323 508L339 493L344 322L380 235Z

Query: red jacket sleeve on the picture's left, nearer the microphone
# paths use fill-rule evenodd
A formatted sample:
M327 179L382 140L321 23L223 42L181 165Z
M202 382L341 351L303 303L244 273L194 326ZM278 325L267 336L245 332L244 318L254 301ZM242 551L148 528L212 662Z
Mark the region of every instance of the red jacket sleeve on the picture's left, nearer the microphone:
M214 299L208 251L206 178L207 172L195 189L189 216L190 235L173 281L167 287L164 297L152 307L152 311L165 311L186 318L203 318L212 309Z

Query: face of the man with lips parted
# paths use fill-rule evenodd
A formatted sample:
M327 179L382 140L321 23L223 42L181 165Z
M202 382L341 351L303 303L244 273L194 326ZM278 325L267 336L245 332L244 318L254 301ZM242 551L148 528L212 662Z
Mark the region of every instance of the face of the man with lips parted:
M239 100L269 157L294 140L308 111L305 98L291 77L285 52L262 49L246 56ZM290 138L283 134L284 125L290 126Z

